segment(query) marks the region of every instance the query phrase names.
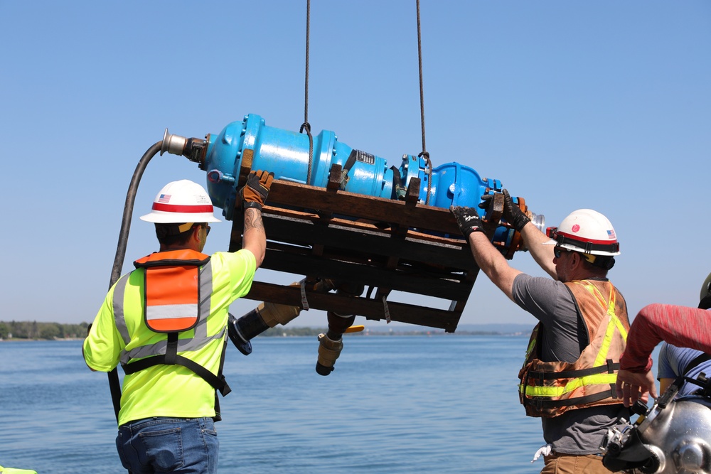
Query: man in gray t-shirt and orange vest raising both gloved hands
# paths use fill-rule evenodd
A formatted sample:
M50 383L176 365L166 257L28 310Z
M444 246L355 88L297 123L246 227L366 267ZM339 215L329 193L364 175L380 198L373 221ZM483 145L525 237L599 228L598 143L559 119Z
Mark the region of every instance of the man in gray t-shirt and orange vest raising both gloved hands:
M486 235L474 208L451 208L479 268L518 306L538 319L520 370L528 416L542 420L541 473L609 473L598 456L607 429L629 416L614 384L629 320L621 293L607 279L619 255L609 220L581 209L550 237L503 190L503 219L552 279L512 268ZM483 197L486 208L493 195Z

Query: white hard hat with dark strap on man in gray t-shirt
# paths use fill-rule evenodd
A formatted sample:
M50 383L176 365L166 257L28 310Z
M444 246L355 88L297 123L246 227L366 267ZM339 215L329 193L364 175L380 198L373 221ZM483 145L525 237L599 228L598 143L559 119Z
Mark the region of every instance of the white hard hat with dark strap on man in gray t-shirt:
M564 249L584 254L614 257L620 254L620 244L610 221L592 209L573 211L559 227L549 227L552 240L544 245L560 245Z

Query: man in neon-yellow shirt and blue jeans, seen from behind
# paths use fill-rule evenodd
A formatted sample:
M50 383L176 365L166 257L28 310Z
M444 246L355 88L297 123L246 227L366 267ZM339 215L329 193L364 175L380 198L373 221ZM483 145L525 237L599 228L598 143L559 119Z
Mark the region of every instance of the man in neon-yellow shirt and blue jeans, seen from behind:
M203 254L210 222L219 222L201 185L174 181L141 220L160 244L112 287L84 341L92 370L122 365L117 449L132 473L215 473L228 308L245 296L267 240L262 205L274 173L250 173L240 195L243 247Z

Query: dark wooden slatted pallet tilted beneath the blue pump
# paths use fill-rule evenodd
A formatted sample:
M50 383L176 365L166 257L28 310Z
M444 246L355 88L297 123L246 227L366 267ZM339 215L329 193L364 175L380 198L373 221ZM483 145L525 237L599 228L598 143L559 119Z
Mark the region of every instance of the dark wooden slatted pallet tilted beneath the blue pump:
M451 212L417 203L417 178L400 201L339 190L340 177L341 167L334 165L327 188L272 183L269 205L262 209L267 253L261 268L302 275L307 281L331 279L366 288L355 297L306 286L309 308L371 320L386 319L389 313L391 321L454 333L479 267L469 244L459 237ZM238 210L241 203L235 203L235 214ZM242 247L242 226L237 215L230 236L232 252ZM448 300L449 308L390 301L392 291ZM419 296L412 300L422 300ZM295 286L255 279L245 297L303 308L301 290Z

